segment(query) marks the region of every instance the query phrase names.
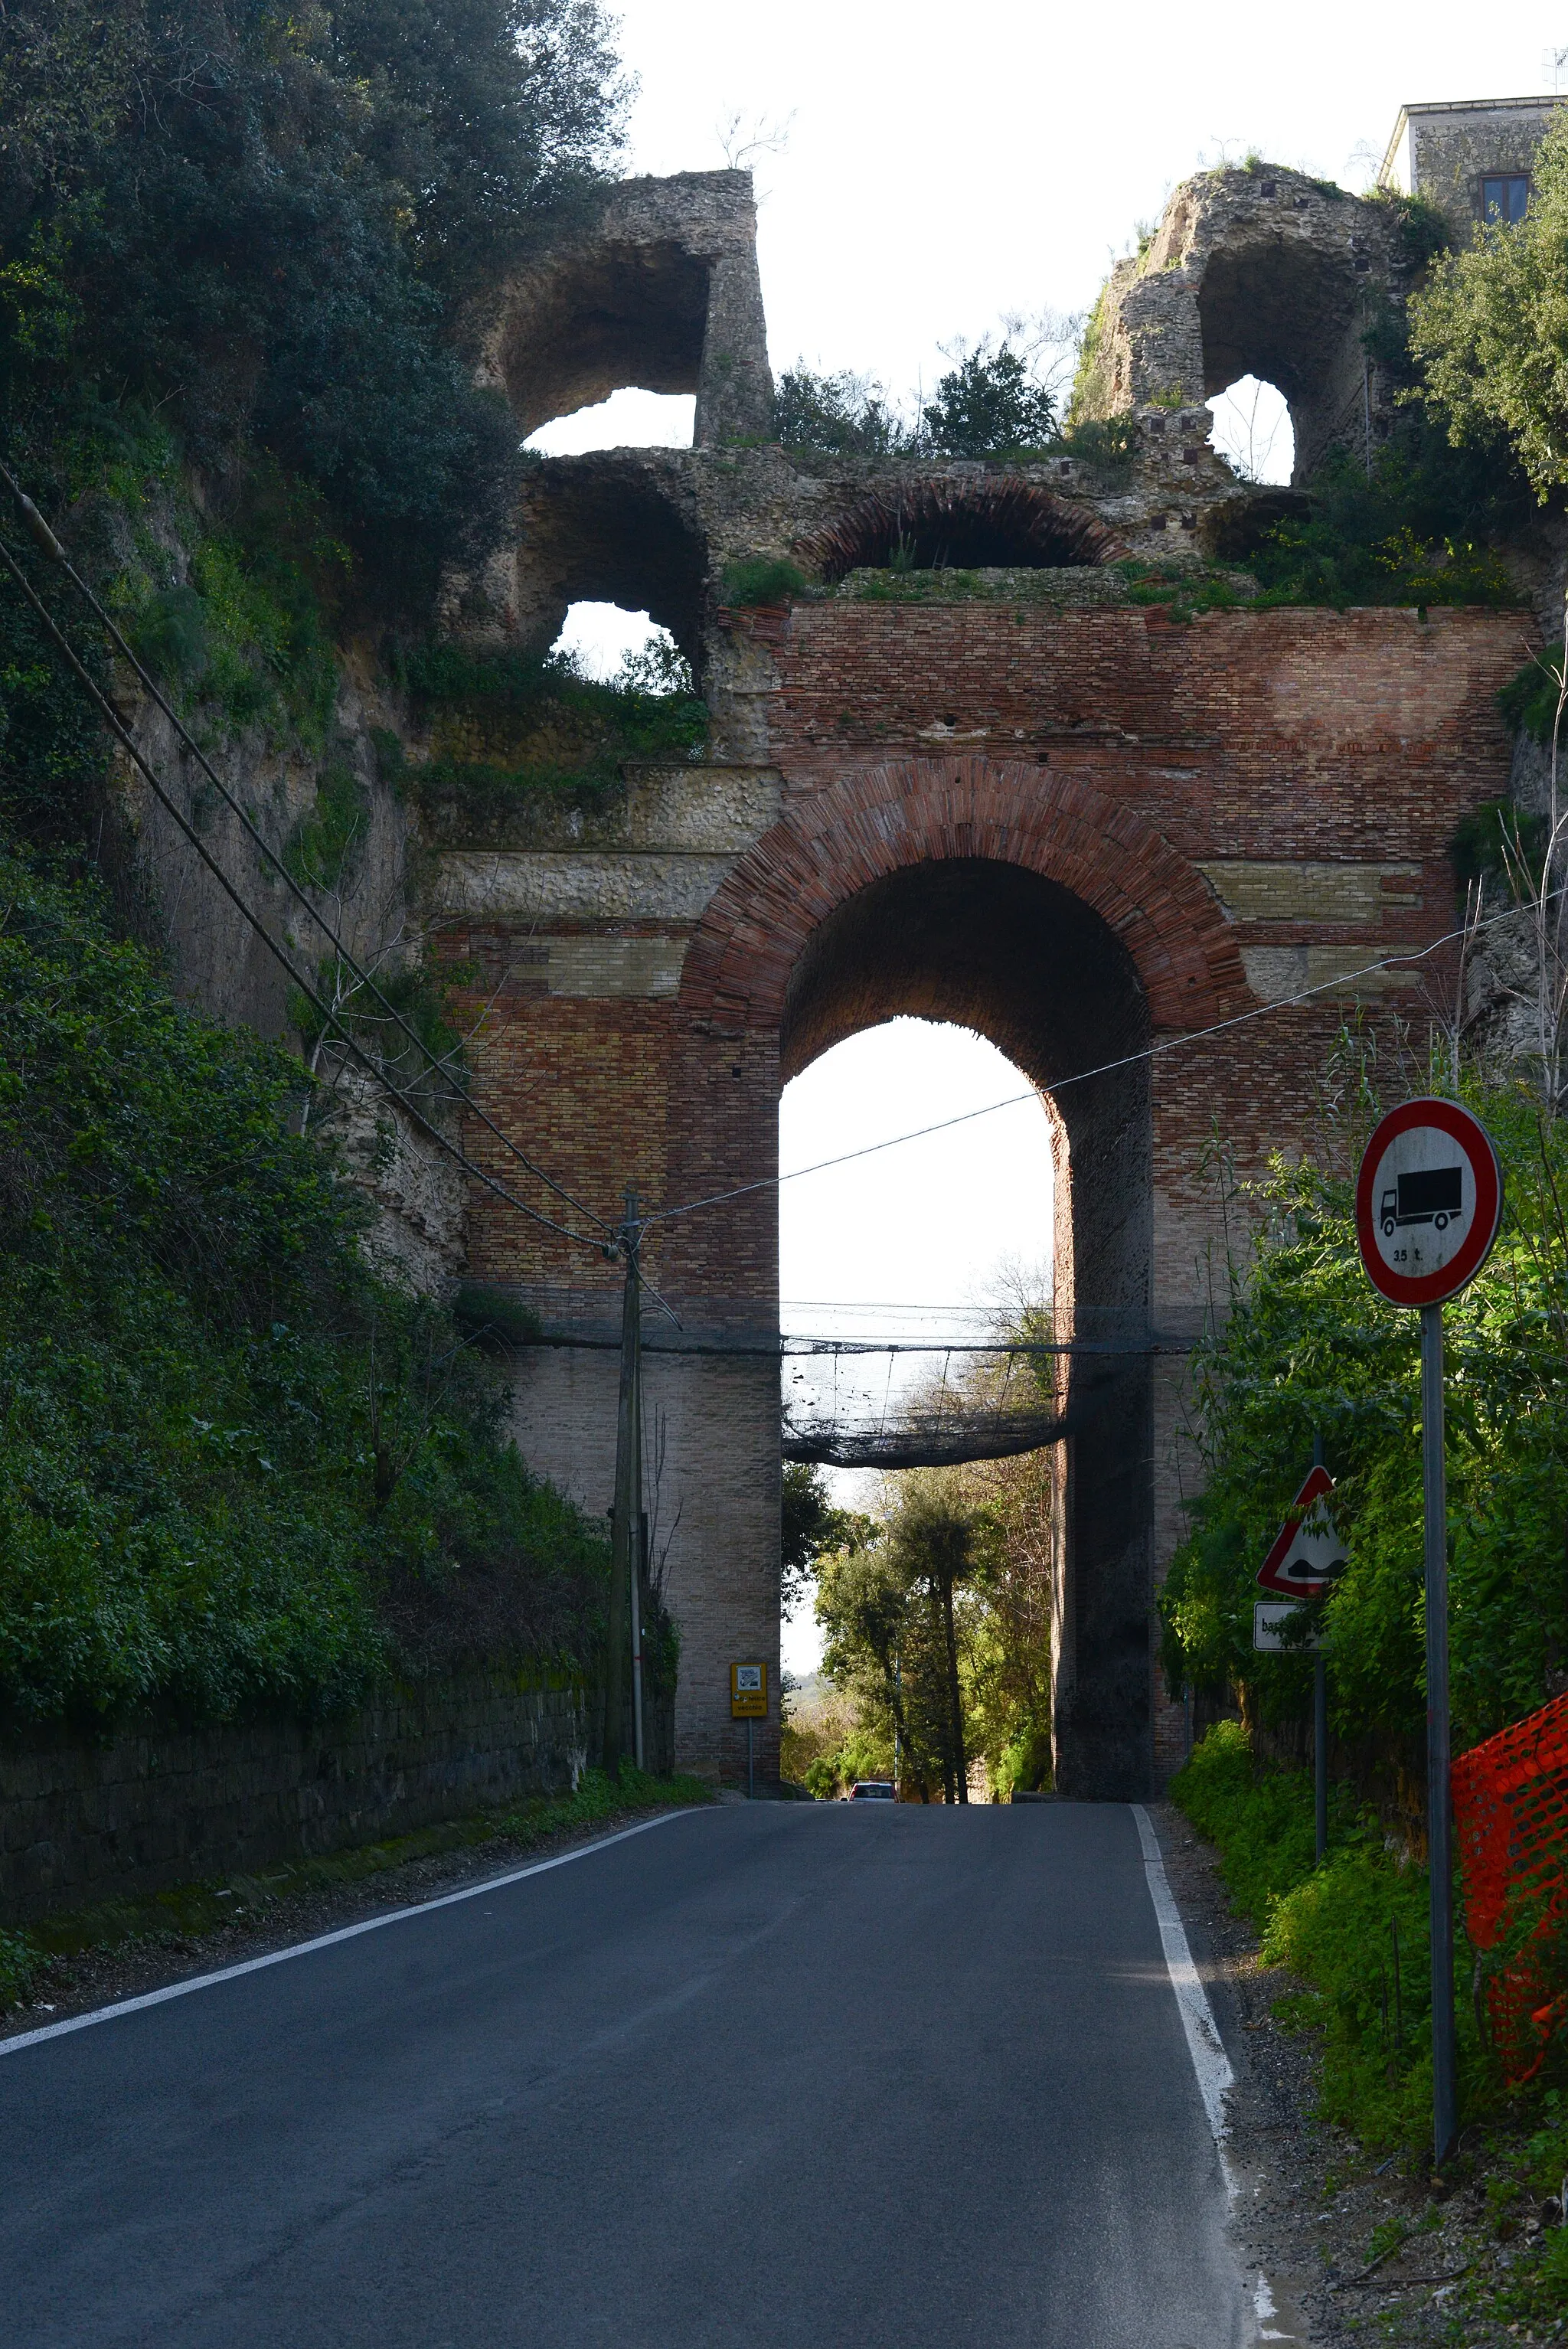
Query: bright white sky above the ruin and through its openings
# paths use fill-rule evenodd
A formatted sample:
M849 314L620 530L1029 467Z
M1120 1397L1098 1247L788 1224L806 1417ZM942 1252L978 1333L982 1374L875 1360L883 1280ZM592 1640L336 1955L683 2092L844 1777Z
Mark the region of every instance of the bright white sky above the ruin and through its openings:
M775 373L871 371L932 388L944 343L1009 315L1080 312L1138 223L1190 171L1244 157L1371 186L1399 106L1554 87L1568 7L1420 12L1322 0L1300 12L1117 9L969 0L622 0L622 54L641 78L631 171L725 162L721 127L786 127L756 157L758 254ZM1563 78L1568 85L1568 75ZM545 428L547 453L690 444L690 399L624 392ZM1251 388L1218 418L1223 446L1289 479L1289 420ZM577 608L566 641L601 672L646 620ZM784 1097L782 1165L880 1139L1016 1090L976 1038L894 1022L852 1038ZM953 1306L984 1294L998 1257L1038 1257L1049 1224L1045 1116L1005 1111L941 1144L786 1184L786 1299ZM822 1311L791 1311L793 1327ZM887 1334L887 1332L885 1332ZM815 1663L815 1626L786 1628L786 1663Z

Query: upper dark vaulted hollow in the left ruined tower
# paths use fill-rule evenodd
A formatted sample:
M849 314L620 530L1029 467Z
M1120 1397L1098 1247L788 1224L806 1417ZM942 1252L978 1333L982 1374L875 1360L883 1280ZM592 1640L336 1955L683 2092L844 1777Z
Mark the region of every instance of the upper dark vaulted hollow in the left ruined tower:
M697 390L709 265L678 244L568 251L512 280L502 303L495 359L523 432L624 388Z

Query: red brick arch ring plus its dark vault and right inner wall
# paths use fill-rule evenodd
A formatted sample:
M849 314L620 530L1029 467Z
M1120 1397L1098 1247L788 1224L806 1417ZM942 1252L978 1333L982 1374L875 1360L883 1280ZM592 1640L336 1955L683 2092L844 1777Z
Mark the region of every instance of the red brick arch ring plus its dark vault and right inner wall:
M1101 1348L1059 1374L1075 1428L1056 1466L1063 1792L1136 1797L1150 1766L1143 1048L1239 1001L1221 911L1157 832L1103 789L984 756L897 761L793 801L718 890L685 961L685 1010L718 1031L777 1034L779 1083L913 1012L986 1034L1052 1104L1061 1327Z

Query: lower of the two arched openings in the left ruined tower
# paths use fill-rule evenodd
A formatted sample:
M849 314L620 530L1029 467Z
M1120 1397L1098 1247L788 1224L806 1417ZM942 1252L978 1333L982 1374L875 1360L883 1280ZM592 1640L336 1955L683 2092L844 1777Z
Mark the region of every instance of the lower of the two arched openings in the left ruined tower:
M624 622L599 615L610 667L620 627L622 648L667 630L697 669L707 540L678 477L667 484L648 458L554 458L523 484L519 538L519 622L535 644L556 644L575 606L615 606Z

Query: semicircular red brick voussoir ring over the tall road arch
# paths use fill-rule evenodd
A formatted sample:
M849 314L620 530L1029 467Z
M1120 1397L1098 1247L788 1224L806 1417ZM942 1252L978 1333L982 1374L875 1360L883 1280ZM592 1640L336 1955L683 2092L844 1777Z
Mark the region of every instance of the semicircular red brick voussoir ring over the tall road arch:
M1127 947L1155 1029L1251 1001L1211 890L1160 832L1082 778L948 756L859 768L789 806L716 890L681 1003L725 1024L782 1019L805 942L845 897L953 857L1021 864L1091 907Z

